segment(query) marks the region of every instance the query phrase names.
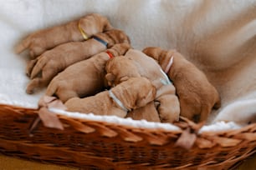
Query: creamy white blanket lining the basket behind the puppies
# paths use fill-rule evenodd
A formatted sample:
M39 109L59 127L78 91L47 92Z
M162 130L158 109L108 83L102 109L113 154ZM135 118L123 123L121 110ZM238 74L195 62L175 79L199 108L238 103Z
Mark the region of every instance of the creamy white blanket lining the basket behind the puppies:
M176 48L206 73L222 97L216 120L256 112L255 0L0 0L0 102L37 107L44 90L25 93L28 53L13 48L29 33L100 13L136 49ZM238 116L239 115L239 116Z

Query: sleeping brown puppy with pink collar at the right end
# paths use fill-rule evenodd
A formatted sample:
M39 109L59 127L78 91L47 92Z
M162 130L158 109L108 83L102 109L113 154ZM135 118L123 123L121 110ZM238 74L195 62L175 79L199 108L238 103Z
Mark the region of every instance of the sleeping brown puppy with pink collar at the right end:
M212 107L220 107L216 88L181 53L175 50L164 51L160 47L146 47L143 52L154 58L171 78L179 97L181 116L195 122L205 121Z

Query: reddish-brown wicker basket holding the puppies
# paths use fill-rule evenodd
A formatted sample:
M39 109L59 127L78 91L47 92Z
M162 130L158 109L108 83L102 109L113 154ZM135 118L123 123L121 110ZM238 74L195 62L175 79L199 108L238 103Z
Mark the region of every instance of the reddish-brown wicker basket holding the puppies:
M255 153L256 123L197 133L184 119L170 131L58 115L64 130L38 123L38 109L0 105L0 152L88 169L229 169Z

